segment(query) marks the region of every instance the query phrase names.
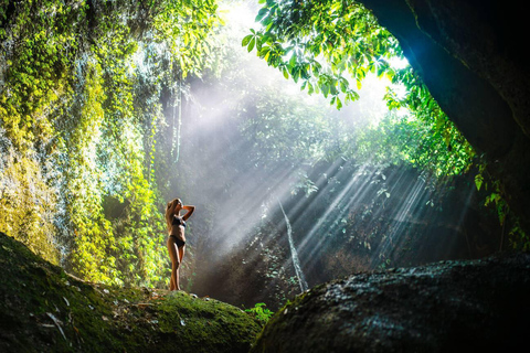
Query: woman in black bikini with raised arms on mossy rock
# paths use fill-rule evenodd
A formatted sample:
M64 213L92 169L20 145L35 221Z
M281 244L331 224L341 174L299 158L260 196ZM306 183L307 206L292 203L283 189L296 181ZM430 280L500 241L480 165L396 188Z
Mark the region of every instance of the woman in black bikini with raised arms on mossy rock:
M180 211L186 210L187 213L180 216ZM184 206L180 199L174 199L168 203L166 208L166 222L168 224L168 249L171 258L171 280L169 290L180 290L179 267L184 257L186 247L186 221L193 214L195 206Z

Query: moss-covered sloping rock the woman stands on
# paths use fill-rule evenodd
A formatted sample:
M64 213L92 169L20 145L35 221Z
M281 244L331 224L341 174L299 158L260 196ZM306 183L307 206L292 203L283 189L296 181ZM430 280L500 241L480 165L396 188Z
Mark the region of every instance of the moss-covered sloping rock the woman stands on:
M82 281L0 233L1 352L247 352L262 323L183 291Z

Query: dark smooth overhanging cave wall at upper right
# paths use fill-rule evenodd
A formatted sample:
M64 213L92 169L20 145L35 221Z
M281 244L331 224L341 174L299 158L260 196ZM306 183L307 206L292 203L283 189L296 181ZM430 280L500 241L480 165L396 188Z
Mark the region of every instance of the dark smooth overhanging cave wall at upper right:
M523 2L362 0L394 34L433 97L530 229L529 69Z

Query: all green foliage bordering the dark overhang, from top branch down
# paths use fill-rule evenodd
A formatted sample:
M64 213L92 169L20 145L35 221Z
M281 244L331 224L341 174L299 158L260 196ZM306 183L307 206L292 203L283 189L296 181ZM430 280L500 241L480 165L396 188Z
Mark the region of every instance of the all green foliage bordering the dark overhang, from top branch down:
M386 77L405 89L404 95L398 95L389 88L389 108L405 108L413 119L394 117L383 121L378 129L393 133L383 146L398 142L398 148L391 148L394 156L438 176L465 173L477 162L471 146L417 74L411 67L399 69L392 65L393 58L403 58L398 41L360 2L261 0L259 3L263 7L256 22L261 29L251 30L242 41L248 52L255 49L259 57L286 78L301 81L303 89L321 93L339 109L358 98L352 87L360 89L369 73ZM483 169L480 162L477 164ZM485 182L481 173L475 182L480 190ZM486 203L495 203L504 224L509 213L504 193L494 192Z

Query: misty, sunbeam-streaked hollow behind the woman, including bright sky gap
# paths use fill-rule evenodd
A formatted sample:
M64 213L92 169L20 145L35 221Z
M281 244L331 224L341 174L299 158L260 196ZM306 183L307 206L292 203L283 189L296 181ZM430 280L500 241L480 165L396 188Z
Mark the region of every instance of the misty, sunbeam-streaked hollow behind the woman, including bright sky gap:
M358 270L477 255L462 233L473 183L460 182L467 196L448 213L451 196L428 173L393 165L392 147L359 148L389 115L389 81L368 76L360 99L337 110L240 45L256 26L253 2L224 6L223 68L187 79L173 136L170 196L197 206L188 231L194 266L184 276L193 291L277 307ZM432 236L422 240L422 232ZM245 280L246 289L226 288Z

